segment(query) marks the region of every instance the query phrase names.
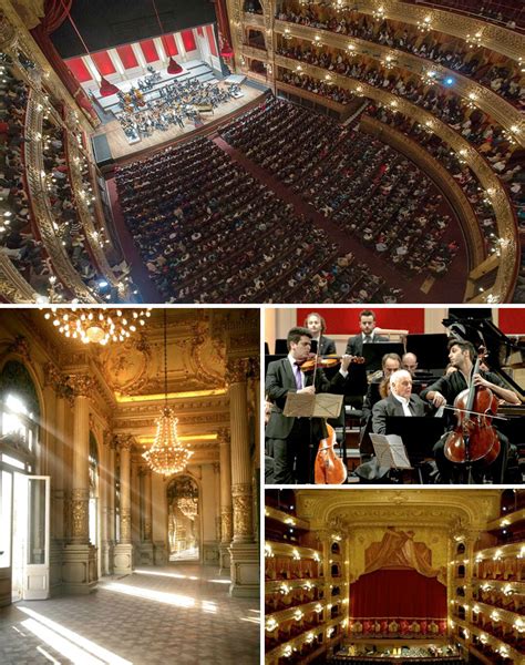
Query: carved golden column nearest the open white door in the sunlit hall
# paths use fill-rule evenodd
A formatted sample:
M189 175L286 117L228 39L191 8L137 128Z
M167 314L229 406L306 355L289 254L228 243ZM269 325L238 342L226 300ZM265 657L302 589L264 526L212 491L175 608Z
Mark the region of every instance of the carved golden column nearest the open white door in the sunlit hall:
M66 377L73 393L73 466L71 479L70 534L64 549L65 591L89 593L97 580L96 549L90 544L90 395L95 388L89 375Z

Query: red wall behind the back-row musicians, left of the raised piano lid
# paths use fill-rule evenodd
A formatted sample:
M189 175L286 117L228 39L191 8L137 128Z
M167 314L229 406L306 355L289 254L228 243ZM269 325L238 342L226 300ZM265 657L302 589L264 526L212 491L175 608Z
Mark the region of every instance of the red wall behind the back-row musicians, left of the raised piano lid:
M316 309L327 321L327 335L356 335L359 332L359 313L367 309L362 305L356 307L344 307L342 309ZM424 332L424 309L415 308L392 308L392 307L372 307L375 313L378 326L380 328L391 328L398 330L409 330L412 334ZM302 326L309 309L297 309L297 325Z

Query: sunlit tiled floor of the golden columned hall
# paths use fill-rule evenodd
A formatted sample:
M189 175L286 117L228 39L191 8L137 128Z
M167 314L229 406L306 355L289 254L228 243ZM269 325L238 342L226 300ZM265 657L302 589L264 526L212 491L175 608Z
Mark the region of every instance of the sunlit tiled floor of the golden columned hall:
M214 566L141 567L89 596L0 610L2 665L259 663L259 601L228 596Z

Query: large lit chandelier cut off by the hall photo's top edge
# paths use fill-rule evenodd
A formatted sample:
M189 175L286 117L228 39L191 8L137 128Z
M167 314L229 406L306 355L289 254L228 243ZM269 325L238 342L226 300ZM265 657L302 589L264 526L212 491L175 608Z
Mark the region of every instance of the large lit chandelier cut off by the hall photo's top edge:
M151 309L71 309L51 308L44 318L53 321L64 337L80 339L83 344L125 341L151 316Z

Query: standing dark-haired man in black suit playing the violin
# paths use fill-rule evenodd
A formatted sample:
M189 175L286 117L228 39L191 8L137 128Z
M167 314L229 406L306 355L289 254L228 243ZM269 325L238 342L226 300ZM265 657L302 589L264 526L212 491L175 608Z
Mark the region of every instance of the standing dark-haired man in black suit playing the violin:
M274 458L276 484L306 483L312 478L309 463L310 436L313 442L327 437L325 421L320 418L289 418L282 413L288 392L342 393L348 377L350 356L343 356L341 368L329 381L322 369L305 374L300 367L308 359L311 332L308 328L291 328L287 336L288 356L268 366L266 395L272 402L266 427L268 454ZM315 376L315 383L313 383Z

